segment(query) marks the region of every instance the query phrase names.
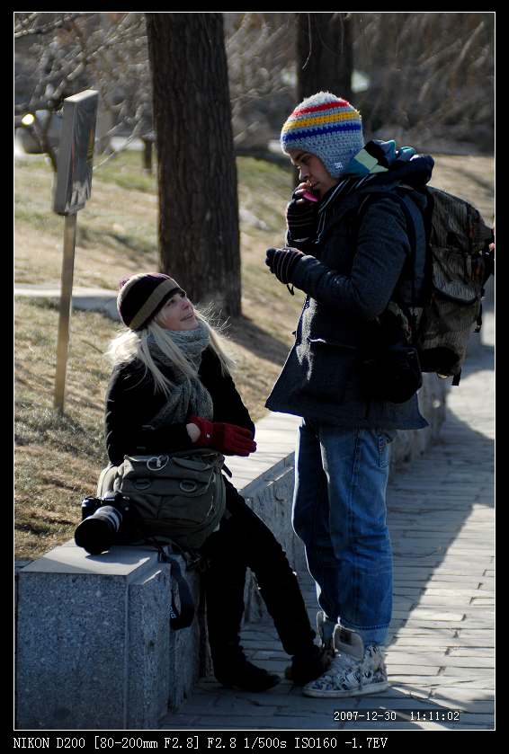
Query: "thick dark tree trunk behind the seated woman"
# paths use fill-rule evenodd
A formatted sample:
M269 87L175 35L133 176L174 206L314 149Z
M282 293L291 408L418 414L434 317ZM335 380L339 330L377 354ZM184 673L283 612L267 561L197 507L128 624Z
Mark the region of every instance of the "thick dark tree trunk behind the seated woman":
M240 314L237 167L221 13L146 13L161 269Z

